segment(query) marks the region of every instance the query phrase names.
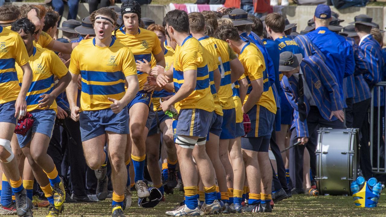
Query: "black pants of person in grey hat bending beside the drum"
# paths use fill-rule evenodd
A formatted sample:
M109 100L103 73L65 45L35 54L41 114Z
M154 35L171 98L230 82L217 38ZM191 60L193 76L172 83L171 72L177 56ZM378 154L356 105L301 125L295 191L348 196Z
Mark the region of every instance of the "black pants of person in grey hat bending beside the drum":
M303 155L305 148L307 148L310 153L311 171L314 175L316 173L315 149L317 147L318 137L316 130L319 127L342 129L344 128L344 124L340 120L329 121L324 119L322 115L320 115L319 109L316 106L311 106L310 112L307 115L307 127L309 136L308 142L304 146L298 145L289 149L289 177L291 178L290 187L292 188L303 188ZM297 141L298 137L296 129L293 129L290 144L293 145Z

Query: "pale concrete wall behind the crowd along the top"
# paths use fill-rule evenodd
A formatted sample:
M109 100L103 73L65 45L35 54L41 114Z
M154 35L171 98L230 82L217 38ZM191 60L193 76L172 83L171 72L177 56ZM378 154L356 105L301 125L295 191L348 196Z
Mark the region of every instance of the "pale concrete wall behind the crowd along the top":
M22 5L25 2L13 2L15 5ZM29 2L30 4L34 4ZM120 6L120 4L117 4ZM307 26L307 20L313 18L316 5L290 5L290 6L275 6L274 12L285 15L289 22L298 24L298 32L303 30ZM156 21L157 24L162 24L162 20L169 11L169 5L142 5L142 17L149 17ZM337 10L334 7L331 9L339 14L339 19L345 20L341 23L342 26L348 25L354 21L354 17L359 14L367 14L373 17L373 22L379 24L381 29L384 29L386 25L386 7L371 6L371 7L350 7L343 10ZM80 3L78 9L78 20L89 15L88 3ZM68 14L68 7L64 7L63 19L66 20Z

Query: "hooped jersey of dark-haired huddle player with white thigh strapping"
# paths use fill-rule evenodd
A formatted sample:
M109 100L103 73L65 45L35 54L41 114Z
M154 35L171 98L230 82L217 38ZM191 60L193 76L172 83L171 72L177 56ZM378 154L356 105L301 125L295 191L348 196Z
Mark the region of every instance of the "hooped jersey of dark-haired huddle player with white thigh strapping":
M188 97L176 103L175 107L178 111L186 108L198 108L208 112L214 110L208 65L203 49L200 42L192 36L186 37L181 46L176 47L173 63L174 91L177 93L183 85L184 71L197 70L195 90Z

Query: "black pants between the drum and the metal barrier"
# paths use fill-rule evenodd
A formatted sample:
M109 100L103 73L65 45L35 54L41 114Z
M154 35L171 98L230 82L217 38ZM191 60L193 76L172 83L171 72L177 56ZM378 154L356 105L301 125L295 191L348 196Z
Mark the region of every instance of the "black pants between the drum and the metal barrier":
M369 179L372 176L371 159L370 159L370 125L369 125L369 107L371 98L362 102L354 103L352 110L354 121L352 127L359 129L361 151L359 152L359 166L363 176Z

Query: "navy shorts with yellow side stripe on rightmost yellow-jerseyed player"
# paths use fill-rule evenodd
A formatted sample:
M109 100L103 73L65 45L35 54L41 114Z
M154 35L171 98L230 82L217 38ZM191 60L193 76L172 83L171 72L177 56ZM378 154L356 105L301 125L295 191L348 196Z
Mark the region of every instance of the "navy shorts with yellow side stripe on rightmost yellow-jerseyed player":
M252 130L245 137L271 136L275 114L261 105L254 105L247 113Z

